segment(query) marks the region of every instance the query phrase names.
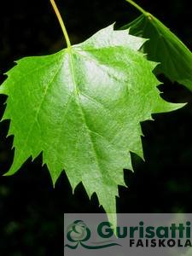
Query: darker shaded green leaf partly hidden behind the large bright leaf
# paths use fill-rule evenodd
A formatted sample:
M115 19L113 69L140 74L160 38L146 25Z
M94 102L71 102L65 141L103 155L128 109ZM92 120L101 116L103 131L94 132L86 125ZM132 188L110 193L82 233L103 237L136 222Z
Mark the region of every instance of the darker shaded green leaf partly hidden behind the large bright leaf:
M148 60L160 62L155 73L164 73L172 82L177 81L192 90L192 53L160 20L146 13L123 26L131 35L149 38L143 45Z

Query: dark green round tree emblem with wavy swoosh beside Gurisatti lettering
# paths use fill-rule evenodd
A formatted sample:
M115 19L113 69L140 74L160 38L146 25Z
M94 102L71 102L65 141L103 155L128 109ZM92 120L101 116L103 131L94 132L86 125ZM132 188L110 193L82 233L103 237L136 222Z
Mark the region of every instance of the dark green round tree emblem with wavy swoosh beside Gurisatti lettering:
M84 224L84 221L76 220L73 224L69 224L67 227L67 240L70 241L71 244L66 244L65 247L76 249L80 245L86 249L96 250L106 247L120 246L118 243L113 241L92 242L95 245L88 245L85 242L90 240L90 236L90 229L86 224Z

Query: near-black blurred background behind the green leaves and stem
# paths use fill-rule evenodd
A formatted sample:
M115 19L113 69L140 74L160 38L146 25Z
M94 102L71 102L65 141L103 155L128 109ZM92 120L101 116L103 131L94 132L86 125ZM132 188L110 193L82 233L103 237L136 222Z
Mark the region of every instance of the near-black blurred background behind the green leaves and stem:
M124 0L57 0L73 44L117 21L125 25L139 13ZM187 0L138 0L192 49L192 10ZM0 82L14 61L47 55L65 46L48 0L0 3ZM154 115L142 124L145 162L132 154L135 173L125 171L129 189L119 188L118 212L192 212L192 94L165 78L166 100L189 102L173 113ZM3 114L5 96L0 96ZM53 189L41 156L27 160L13 177L9 170L13 137L9 122L0 124L0 255L63 255L63 213L103 212L96 195L88 199L82 184L74 195L62 172Z

